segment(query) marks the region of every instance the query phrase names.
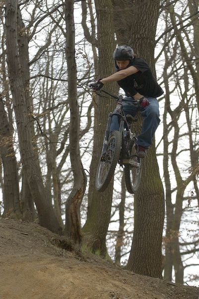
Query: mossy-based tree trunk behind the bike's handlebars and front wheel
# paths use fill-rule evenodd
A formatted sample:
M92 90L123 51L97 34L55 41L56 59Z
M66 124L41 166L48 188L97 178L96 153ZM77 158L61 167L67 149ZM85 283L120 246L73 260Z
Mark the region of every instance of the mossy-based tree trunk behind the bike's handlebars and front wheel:
M111 0L95 0L97 14L97 36L99 49L99 77L107 77L114 72L113 51L115 49L113 9ZM109 26L107 26L109 24ZM107 84L106 90L115 93L116 84ZM105 97L98 98L99 103L99 133L94 138L99 139L99 148L96 160L93 162L93 170L96 174L97 164L101 154L108 113L114 110L115 102ZM97 141L94 141L97 142ZM100 193L94 188L92 199L89 201L89 211L86 223L83 227L84 244L92 252L98 252L105 257L107 254L106 235L111 217L111 205L113 196L113 179L106 191ZM91 194L89 194L91 196Z

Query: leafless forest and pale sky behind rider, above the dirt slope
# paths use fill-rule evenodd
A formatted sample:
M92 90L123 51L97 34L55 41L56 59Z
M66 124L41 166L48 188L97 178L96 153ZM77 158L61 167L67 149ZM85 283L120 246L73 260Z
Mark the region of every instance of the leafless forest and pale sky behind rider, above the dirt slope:
M161 278L163 268L164 279L196 285L199 0L1 0L0 9L2 217L38 218L128 270ZM115 71L117 44L146 59L165 92L134 196L121 168L105 192L94 187L115 102L88 86Z

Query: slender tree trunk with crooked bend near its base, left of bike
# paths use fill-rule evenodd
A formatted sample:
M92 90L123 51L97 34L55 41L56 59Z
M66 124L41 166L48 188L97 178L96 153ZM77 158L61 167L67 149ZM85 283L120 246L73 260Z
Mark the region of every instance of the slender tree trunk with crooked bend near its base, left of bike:
M74 0L65 2L66 61L68 72L68 100L70 107L69 150L73 172L73 188L66 202L66 234L77 245L81 243L79 209L86 189L86 175L80 159L79 149L79 106L77 102L77 73L75 61Z

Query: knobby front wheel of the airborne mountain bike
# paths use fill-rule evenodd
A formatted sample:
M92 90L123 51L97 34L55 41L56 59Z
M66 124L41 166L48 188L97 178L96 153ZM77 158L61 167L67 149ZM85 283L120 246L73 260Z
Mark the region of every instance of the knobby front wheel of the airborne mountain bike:
M121 145L122 134L119 131L113 131L107 143L107 149L104 154L105 159L102 161L101 155L97 167L95 187L99 192L103 192L108 187L108 184L114 175L120 156Z

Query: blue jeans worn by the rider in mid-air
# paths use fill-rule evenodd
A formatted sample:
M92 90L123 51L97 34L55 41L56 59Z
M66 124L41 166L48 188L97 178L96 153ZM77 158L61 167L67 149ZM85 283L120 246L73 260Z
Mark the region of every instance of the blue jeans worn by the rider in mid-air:
M142 131L141 134L137 137L137 144L139 146L148 148L152 144L152 138L155 134L155 131L160 123L159 119L159 104L156 98L147 98L150 102L150 105L145 108L141 108L141 116L144 117ZM140 111L140 107L133 107L128 105L128 103L133 103L134 99L131 97L124 98L123 102L123 110L125 115L131 114L133 117L136 115L138 111ZM114 111L114 113L116 110ZM119 123L118 117L114 115L112 117L110 131L119 131Z

